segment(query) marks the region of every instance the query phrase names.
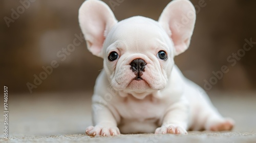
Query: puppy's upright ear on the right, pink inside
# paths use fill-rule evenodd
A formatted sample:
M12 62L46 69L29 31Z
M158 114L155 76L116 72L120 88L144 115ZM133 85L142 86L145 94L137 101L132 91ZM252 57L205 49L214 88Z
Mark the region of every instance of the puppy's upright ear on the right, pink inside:
M193 4L188 0L172 1L165 7L158 21L172 38L175 55L184 52L189 46L196 22Z

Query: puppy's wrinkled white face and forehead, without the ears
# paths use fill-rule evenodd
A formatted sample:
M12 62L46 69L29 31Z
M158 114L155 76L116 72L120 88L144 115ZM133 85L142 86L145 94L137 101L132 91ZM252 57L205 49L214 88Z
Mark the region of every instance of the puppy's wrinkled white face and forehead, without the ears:
M145 17L118 22L102 52L104 70L115 90L161 90L174 65L173 42L157 21Z

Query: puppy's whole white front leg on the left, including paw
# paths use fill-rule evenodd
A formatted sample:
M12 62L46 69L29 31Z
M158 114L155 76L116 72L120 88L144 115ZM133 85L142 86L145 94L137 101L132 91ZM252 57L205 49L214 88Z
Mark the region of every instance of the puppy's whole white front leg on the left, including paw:
M115 117L109 108L99 103L94 103L93 107L96 107L93 108L93 122L95 126L88 127L86 134L90 136L114 136L120 134Z

